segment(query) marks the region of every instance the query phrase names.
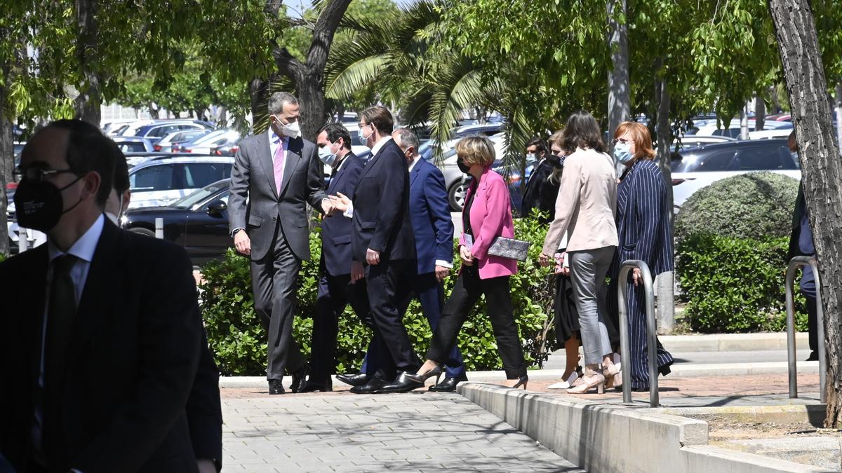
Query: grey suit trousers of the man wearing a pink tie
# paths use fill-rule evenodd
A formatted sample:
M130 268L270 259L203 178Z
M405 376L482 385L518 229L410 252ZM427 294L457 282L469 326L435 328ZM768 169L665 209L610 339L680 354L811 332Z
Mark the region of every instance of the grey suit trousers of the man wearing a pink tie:
M269 335L266 379L280 380L285 368L293 373L306 363L292 337L301 260L287 244L280 221L275 224L274 246L264 258L252 261L251 270L254 310Z

